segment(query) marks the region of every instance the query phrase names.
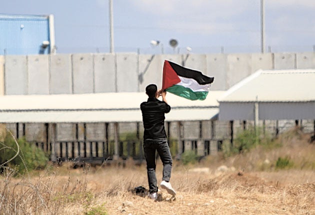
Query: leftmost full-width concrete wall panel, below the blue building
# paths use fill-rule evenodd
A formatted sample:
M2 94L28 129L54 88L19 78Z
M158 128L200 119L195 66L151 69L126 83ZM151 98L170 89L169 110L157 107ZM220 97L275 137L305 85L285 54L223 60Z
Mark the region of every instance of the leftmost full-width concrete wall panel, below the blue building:
M27 94L26 56L5 56L4 77L5 94Z

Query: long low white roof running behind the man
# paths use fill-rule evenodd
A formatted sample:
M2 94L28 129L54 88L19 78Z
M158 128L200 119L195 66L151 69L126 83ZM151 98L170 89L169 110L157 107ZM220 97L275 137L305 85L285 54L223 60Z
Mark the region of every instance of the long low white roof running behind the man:
M191 101L167 93L171 111L165 120L207 120L218 113L217 98L210 91L203 101ZM4 95L0 96L0 122L131 122L141 121L144 92Z

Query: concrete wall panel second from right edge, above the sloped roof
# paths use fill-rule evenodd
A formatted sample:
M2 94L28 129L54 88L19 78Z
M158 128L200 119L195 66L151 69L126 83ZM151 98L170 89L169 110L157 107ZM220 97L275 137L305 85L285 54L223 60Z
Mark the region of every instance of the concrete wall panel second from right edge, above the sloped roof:
M295 53L274 53L274 69L295 68Z

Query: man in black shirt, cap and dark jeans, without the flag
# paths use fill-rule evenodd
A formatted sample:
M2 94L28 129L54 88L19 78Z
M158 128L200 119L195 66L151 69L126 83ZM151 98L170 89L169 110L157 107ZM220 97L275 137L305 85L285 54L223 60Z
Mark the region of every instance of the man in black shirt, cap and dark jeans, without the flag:
M155 151L157 151L163 163L163 177L160 186L166 189L172 196L176 194L169 183L172 159L164 128L164 114L170 111L170 106L167 104L165 98L166 91L157 90L155 84L147 85L145 93L148 95L148 99L140 104L144 127L143 150L146 160L149 197L156 200ZM162 96L162 101L157 99L160 95Z

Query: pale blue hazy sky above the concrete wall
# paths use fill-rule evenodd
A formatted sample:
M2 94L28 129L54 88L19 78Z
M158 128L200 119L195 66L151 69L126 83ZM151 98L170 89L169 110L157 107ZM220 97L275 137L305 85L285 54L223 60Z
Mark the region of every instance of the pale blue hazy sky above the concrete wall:
M259 52L260 0L112 0L115 52ZM57 53L109 52L108 0L0 0L2 14L53 14ZM264 0L265 49L313 51L315 0ZM176 39L173 49L170 39ZM159 40L158 46L150 44ZM223 47L223 48L222 48Z

